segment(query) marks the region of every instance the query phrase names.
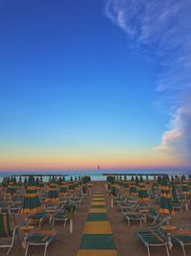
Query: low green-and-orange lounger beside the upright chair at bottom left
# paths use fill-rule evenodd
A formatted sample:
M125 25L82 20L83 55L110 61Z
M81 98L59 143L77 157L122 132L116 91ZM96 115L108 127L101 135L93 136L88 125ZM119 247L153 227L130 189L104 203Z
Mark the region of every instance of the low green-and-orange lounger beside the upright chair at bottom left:
M29 246L30 245L44 245L44 256L47 253L47 247L53 243L55 240L57 231L56 230L34 230L32 231L29 236L26 238L26 250L25 256L28 254Z

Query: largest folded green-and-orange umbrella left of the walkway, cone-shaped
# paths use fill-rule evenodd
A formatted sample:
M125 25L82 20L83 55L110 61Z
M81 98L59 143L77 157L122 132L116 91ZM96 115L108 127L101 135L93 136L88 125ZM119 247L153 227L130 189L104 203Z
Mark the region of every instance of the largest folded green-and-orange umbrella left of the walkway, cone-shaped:
M36 191L36 183L33 176L29 176L25 198L21 208L21 214L35 214L40 212L41 204Z

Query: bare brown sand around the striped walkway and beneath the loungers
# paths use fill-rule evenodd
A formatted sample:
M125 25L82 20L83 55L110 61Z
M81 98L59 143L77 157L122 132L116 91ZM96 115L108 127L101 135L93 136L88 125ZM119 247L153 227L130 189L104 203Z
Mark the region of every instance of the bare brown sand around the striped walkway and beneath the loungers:
M136 231L138 229L145 229L146 225L144 224L141 228L138 221L132 221L131 226L127 225L127 222L123 220L122 215L117 208L117 204L114 204L114 207L111 208L110 197L105 189L103 184L99 185L96 182L92 188L92 192L100 191L104 192L104 197L106 199L108 216L112 225L113 236L117 246L117 255L118 256L147 256L147 250L143 244L138 240ZM85 221L90 209L92 196L84 198L82 204L77 208L77 213L74 218L74 233L69 233L69 222L67 222L66 227L64 228L62 224L55 226L58 230L56 241L51 244L47 251L47 256L75 256L77 254L77 249L80 244L80 239L83 233ZM155 207L159 207L155 205ZM17 221L22 221L23 217L18 216ZM183 213L176 213L175 216L171 218L171 224L179 227L190 228L191 229L191 216L190 210L188 212L183 211ZM148 223L149 224L149 223ZM50 228L48 222L43 223L42 228ZM21 240L23 240L23 232L20 232ZM0 249L0 255L6 255L6 250ZM188 246L186 248L187 256L191 256L191 248ZM12 248L11 256L24 256L25 250L21 245L16 245ZM43 247L41 246L32 246L29 250L28 255L32 256L43 256ZM152 256L162 256L166 255L165 248L163 246L151 248ZM171 256L180 256L183 255L180 245L174 245L172 250L170 250ZM98 255L97 255L98 256Z

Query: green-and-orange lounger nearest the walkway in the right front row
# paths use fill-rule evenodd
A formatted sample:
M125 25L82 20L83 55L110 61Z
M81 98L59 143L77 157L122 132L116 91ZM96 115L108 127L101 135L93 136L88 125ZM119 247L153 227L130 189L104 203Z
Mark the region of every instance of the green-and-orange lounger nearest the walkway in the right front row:
M138 238L147 248L148 256L150 256L151 246L165 246L167 256L168 251L168 239L164 234L160 233L159 230L138 230Z

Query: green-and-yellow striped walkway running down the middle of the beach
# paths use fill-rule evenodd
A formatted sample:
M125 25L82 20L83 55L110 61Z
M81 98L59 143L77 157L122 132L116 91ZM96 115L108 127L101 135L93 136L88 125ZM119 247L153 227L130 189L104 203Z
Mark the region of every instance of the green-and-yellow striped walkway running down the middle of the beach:
M93 195L77 256L117 256L102 192Z

